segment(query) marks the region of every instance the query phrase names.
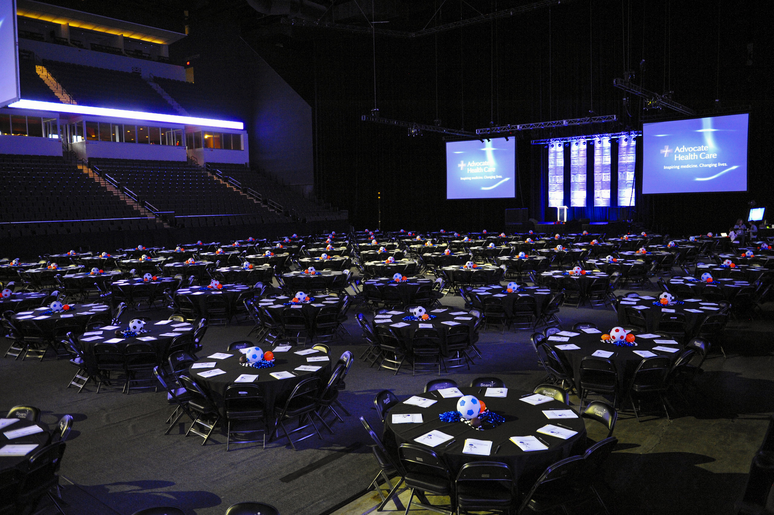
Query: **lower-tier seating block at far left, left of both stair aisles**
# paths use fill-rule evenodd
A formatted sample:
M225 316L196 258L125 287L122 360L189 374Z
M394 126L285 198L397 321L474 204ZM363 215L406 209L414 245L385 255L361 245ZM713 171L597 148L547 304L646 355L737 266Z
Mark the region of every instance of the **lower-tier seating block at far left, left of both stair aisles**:
M0 154L0 197L0 237L159 226L62 157Z

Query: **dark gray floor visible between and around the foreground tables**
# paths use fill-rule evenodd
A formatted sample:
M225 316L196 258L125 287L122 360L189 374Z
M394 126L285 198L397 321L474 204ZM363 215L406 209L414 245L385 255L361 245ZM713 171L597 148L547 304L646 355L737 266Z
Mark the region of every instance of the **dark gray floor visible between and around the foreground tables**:
M460 297L446 297L447 305L461 306ZM151 311L156 319L168 311ZM359 330L354 310L347 324L351 337L333 344L334 355L351 350L359 356ZM615 325L611 310L563 308L563 326L594 321L601 328ZM728 513L741 495L752 454L760 444L767 416L774 410L774 369L769 355L771 313L756 321L734 322L728 338L728 359L714 355L705 365L690 407L675 402L680 411L672 421L646 417L638 424L622 415L616 427L620 444L608 466L612 504L618 513ZM244 339L248 324L214 327L204 338L204 352L223 351L229 342ZM484 359L470 371L451 373L467 384L476 376L495 375L516 389L528 390L543 373L529 345L530 331L491 330L481 335ZM5 343L2 344L5 351ZM293 451L286 441L264 450L236 448L226 452L225 437L216 434L206 446L201 438L183 436L183 424L170 435L163 421L170 414L166 393L142 390L125 395L119 388L94 393L66 389L74 368L66 360L43 362L0 360L0 398L3 410L29 403L44 410L44 421L54 424L62 414L75 418L61 475L67 513L130 515L149 506L180 506L186 513L220 515L231 503L260 500L283 514L319 515L361 492L377 468L358 415L381 431L373 396L383 389L399 396L420 392L437 377L412 376L410 369L368 368L356 360L347 378L341 402L352 416L333 424L335 434L323 430L323 439L308 438ZM591 438L602 438L599 427L587 424ZM187 424L186 426L187 427ZM284 480L283 480L284 479ZM55 513L42 504L42 513Z

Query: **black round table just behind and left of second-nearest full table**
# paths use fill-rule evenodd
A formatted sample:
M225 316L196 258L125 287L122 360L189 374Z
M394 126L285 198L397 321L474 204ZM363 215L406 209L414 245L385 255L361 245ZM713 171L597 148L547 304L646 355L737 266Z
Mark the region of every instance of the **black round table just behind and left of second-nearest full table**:
M80 348L84 350L84 359L89 366L96 366L94 362L94 344L106 343L113 338L119 338L120 342L115 342L118 350L123 351L126 345L130 343L147 343L156 352L156 360L159 365L163 365L164 353L166 348L169 347L170 342L176 335L186 335L194 331L194 326L188 322L166 321L166 324L159 324L158 322L146 322L145 329L148 332L142 333L131 338L125 338L122 335L116 335L116 331L124 331L128 328L126 325L122 325L118 329L94 329L94 331L86 331L83 335L78 336L78 343ZM115 327L115 326L108 326ZM175 336L173 336L173 333ZM140 338L154 338L152 340L142 340Z

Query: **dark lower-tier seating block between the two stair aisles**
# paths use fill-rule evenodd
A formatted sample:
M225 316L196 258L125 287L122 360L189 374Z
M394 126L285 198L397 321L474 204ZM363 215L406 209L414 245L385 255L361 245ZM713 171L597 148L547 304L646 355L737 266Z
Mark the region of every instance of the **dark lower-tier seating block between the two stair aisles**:
M91 159L89 166L156 210L173 211L175 223L183 227L288 221L188 163Z

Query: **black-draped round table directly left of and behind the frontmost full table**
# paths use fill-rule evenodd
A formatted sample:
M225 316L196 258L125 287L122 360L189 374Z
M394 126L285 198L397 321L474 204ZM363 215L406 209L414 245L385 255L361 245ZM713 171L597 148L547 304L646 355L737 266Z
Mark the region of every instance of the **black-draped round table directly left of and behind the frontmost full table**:
M317 357L324 355L320 351L310 352L305 355L298 355L296 352L303 352L294 350L291 347L286 352L277 352L275 348L263 348L264 351L272 350L274 352L274 366L265 369L255 369L252 366L242 366L239 362L239 351L224 352L224 354L232 354L231 357L225 359L214 359L204 357L197 361L197 363L215 362L216 365L213 368L221 369L225 373L218 374L217 376L202 377L198 373L205 372L208 369L194 369L193 365L188 369L189 375L194 381L206 389L212 395L212 399L217 403L217 406L223 410L224 408L224 396L226 388L235 384L237 379L242 374L248 374L250 376L258 376L252 384L259 386L263 392L264 401L264 413L265 423L271 424L272 429L267 427L266 433L271 434L274 427L274 408L280 406L284 402L283 397L287 397L293 388L304 379L309 379L313 376L319 376L323 380L327 379L330 375L330 359L328 361L320 362L308 362L307 358ZM311 350L311 349L307 349ZM330 358L330 356L329 356ZM320 366L321 368L316 372L296 370L299 366ZM295 374L295 377L288 377L287 379L275 379L271 376L271 373L275 372L289 372ZM236 383L239 384L239 383ZM324 386L324 385L322 385Z

